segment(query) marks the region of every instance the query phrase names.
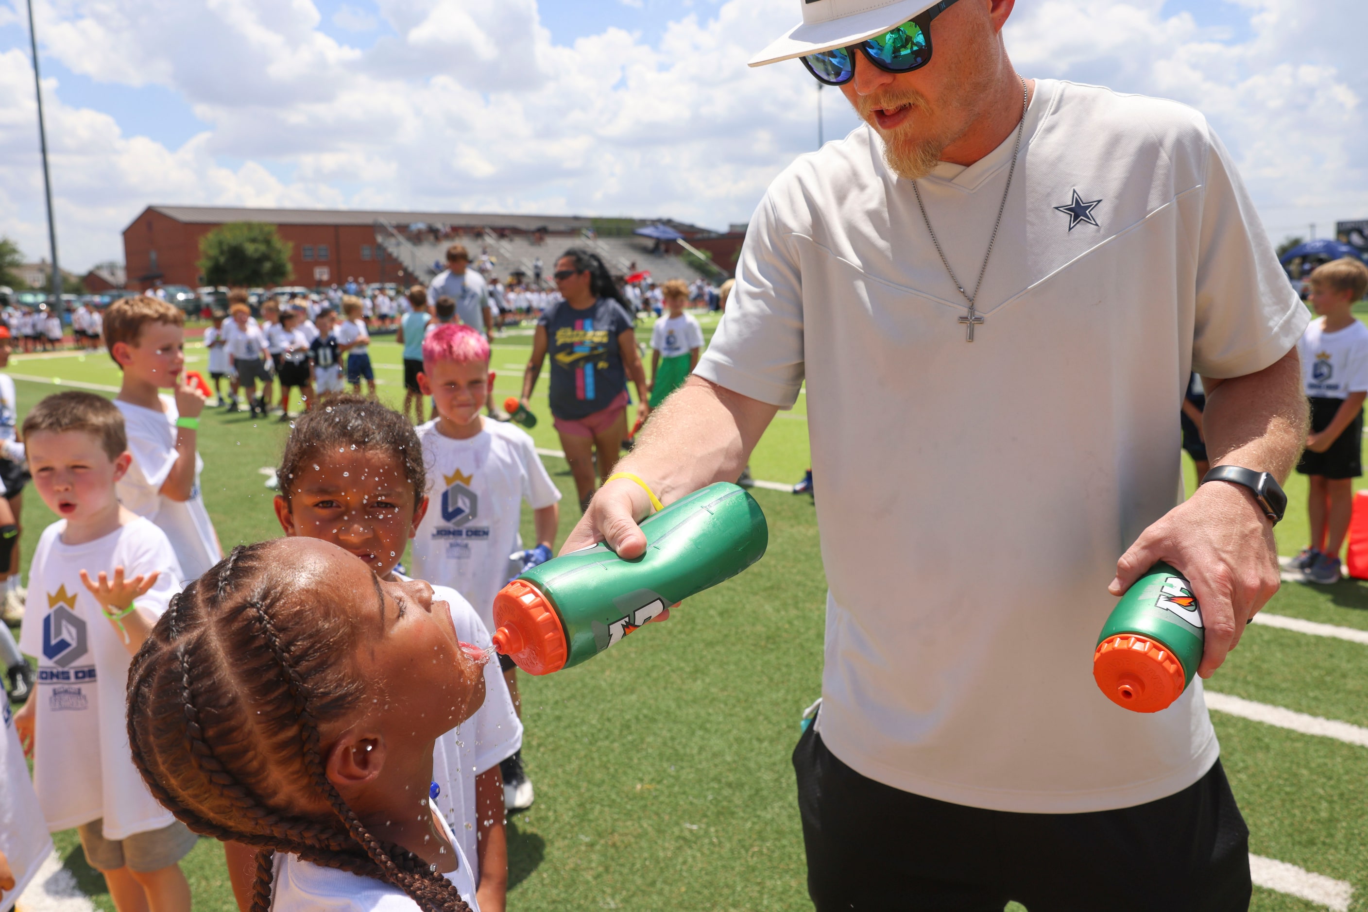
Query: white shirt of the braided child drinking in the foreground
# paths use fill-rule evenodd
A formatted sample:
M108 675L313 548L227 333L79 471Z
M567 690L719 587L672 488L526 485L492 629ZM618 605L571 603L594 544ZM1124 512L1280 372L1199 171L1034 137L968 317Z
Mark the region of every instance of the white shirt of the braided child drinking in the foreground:
M451 837L450 827L440 815L438 822L447 830L447 837ZM472 868L456 838L451 838L451 845L456 846L457 864L456 871L446 874L446 879L456 885L471 912L480 912L475 901ZM301 861L298 856L286 852L276 852L274 861L272 912L410 912L419 908L404 890L383 881Z

